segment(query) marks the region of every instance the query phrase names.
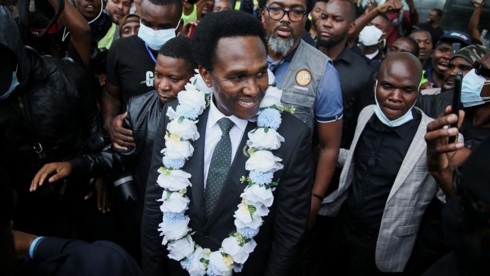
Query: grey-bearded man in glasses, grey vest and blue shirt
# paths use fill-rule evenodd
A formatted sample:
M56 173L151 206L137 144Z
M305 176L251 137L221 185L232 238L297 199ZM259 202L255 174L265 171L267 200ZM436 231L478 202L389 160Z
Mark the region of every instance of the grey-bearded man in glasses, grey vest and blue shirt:
M283 90L281 102L317 135L319 157L309 227L335 171L342 135L342 93L332 60L301 39L309 0L259 0L268 42L267 62Z

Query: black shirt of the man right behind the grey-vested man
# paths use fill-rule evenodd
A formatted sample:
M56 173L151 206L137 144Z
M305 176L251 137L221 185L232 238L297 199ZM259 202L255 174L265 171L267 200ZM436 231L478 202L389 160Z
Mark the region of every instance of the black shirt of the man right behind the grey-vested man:
M349 148L354 138L359 113L374 102L373 70L349 47L345 47L334 60L334 67L338 72L344 105L340 147Z

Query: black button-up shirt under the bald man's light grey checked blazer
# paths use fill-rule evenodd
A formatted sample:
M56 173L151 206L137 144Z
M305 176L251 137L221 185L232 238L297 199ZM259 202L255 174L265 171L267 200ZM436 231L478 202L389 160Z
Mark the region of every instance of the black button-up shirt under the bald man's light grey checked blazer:
M421 115L412 110L413 120L383 130L373 114L355 149L355 174L347 197L352 218L369 229L379 229L389 192L420 124Z

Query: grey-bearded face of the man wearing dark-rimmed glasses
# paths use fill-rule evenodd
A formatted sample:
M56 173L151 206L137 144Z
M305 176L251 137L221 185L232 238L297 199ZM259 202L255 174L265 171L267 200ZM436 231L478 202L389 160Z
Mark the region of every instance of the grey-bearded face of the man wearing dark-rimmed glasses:
M305 0L269 0L267 1L266 7L282 8L284 10L299 10L305 12L307 9ZM303 34L303 30L305 28L305 23L307 18L306 15L303 16L303 19L301 21L292 22L289 19L289 15L285 15L285 14L281 20L275 20L270 18L265 8L260 10L260 14L262 15L262 23L265 24L265 34L268 39L269 47L274 53L282 52L282 54L284 54L284 52L289 52L289 51L275 51L276 47L272 46L272 44L274 43L278 45L285 43L288 46L288 47L278 46L277 47L278 50L280 50L281 48L284 48L281 50L291 50L298 45L301 39L301 35ZM289 49L285 49L285 48L289 48Z

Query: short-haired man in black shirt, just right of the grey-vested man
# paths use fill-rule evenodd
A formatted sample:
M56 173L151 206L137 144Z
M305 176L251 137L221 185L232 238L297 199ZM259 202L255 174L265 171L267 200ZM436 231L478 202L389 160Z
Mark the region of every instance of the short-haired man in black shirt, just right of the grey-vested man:
M355 8L349 2L331 1L316 26L318 49L332 58L340 79L344 106L341 148L350 147L359 112L373 102L373 71L347 46L348 34L354 31L354 20Z

